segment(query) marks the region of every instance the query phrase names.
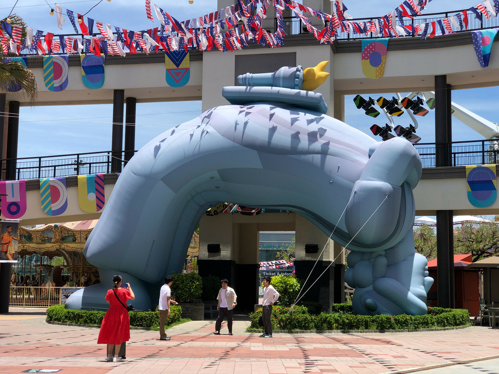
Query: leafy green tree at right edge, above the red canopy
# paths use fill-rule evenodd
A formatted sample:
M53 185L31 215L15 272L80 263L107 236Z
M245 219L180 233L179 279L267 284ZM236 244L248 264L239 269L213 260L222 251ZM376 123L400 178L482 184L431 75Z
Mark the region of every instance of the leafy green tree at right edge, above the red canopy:
M498 216L496 216L498 218ZM454 253L469 254L473 262L499 253L499 230L494 222L464 222L454 229Z

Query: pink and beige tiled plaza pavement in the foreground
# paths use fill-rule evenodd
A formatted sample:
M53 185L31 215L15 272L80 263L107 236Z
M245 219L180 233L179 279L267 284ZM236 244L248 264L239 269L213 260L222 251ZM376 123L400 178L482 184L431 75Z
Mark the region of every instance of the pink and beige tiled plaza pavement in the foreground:
M0 315L0 373L61 369L61 374L499 373L499 330L474 326L416 333L274 334L259 338L235 321L234 336L213 335L214 321L159 333L132 330L127 359L105 361L97 329L49 325L43 310ZM496 357L495 360L484 360ZM480 359L479 361L473 361ZM456 365L457 363L462 363ZM450 366L445 366L450 365ZM423 368L444 366L440 369Z

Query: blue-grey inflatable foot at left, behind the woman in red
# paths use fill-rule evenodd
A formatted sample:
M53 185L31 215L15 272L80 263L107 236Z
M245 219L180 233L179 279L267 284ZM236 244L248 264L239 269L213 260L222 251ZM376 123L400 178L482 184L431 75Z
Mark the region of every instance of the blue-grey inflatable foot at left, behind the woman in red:
M137 310L147 311L151 309L149 292L143 281L130 274L107 269L99 269L102 283L82 288L69 296L66 301L66 309L108 310L109 303L105 298L107 290L110 290L113 287L112 278L114 274L120 274L123 277L123 283L128 282L132 287L133 293L135 294L135 300L129 301L128 304L133 304Z

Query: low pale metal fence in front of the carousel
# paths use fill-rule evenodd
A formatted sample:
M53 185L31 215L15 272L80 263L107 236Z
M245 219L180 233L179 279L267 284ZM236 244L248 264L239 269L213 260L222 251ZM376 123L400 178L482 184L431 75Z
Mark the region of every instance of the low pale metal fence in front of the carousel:
M8 305L22 308L48 308L52 305L63 304L61 299L63 288L67 287L10 286Z

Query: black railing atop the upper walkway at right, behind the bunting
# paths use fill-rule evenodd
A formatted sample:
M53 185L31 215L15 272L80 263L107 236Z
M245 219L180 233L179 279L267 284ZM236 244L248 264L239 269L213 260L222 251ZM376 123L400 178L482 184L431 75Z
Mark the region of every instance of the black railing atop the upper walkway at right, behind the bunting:
M404 17L404 24L400 22L398 17L393 18L393 24L398 25L398 26L415 26L419 25L422 23L430 23L431 22L437 22L438 20L443 20L444 18L449 18L450 16L453 16L457 13L461 13L467 9L462 9L462 10L453 10L453 11L448 11L448 12L442 12L442 13L427 13L427 14L422 14L422 15L417 15L413 19L409 19L407 17ZM476 31L476 30L482 30L482 29L487 29L487 28L493 28L493 27L499 27L499 17L491 17L489 19L485 18L485 16L482 16L482 20L479 20L476 16L475 13L472 11L467 11L468 15L468 28L465 30L463 29L461 31L459 26L455 26L451 22L451 27L453 29L453 32L466 32L466 31ZM349 21L352 22L357 22L357 23L365 23L365 22L372 22L375 19L382 18L376 17L376 18L353 18L349 19ZM299 18L296 17L283 17L283 22L284 22L284 30L287 35L297 35L297 34L304 34L308 33L308 30L306 29L305 25ZM327 22L326 22L327 25ZM274 29L277 30L277 18L275 18L275 26ZM339 29L341 30L341 29ZM431 26L430 29L428 30L428 33L432 31ZM438 24L436 24L436 32L437 34L441 33L440 27ZM446 30L447 32L447 30ZM376 38L376 37L384 37L384 36L379 36L379 35L374 35L372 32L368 32L366 34L358 34L354 32L353 28L350 27L349 31L339 31L337 33L336 39L338 40L357 40L357 39L371 39L371 38ZM399 37L421 37L421 33L419 35L413 35L413 34L407 34L405 36L399 35Z

